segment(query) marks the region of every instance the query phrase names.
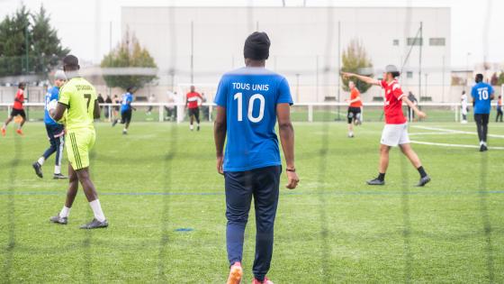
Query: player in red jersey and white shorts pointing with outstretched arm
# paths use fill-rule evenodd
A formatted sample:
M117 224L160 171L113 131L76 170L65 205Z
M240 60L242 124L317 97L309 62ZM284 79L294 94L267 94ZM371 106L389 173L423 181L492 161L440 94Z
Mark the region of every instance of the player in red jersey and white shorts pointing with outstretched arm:
M385 184L385 172L389 166L389 151L392 146L399 145L402 153L406 155L411 164L419 170L420 180L417 186L425 186L430 181L430 177L422 167L417 153L411 149L407 120L404 114L402 114L402 102L410 106L420 118L424 118L427 115L421 112L419 108L417 108L417 105L413 104L410 99L408 99L408 96L404 95L402 92L401 86L397 81L400 75L399 70L393 65L388 65L383 73L383 80L347 72L343 72L342 75L347 78L358 78L367 84L377 85L385 90L385 127L383 128L382 144L380 146L380 172L376 179L368 180L367 184L374 186L383 186Z

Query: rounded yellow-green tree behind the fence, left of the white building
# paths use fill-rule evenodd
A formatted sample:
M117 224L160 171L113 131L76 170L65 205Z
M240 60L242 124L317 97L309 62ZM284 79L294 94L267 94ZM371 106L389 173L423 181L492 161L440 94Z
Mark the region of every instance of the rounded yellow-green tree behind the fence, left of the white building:
M122 41L109 54L103 57L102 68L151 68L157 69L156 62L142 48L138 39L126 32ZM140 88L156 79L155 75L103 75L108 87Z

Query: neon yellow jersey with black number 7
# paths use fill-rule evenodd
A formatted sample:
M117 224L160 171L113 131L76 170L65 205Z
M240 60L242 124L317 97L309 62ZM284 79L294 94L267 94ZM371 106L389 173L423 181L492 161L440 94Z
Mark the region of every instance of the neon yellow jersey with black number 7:
M64 124L67 130L93 128L96 90L85 78L71 78L59 91L58 102L67 105Z

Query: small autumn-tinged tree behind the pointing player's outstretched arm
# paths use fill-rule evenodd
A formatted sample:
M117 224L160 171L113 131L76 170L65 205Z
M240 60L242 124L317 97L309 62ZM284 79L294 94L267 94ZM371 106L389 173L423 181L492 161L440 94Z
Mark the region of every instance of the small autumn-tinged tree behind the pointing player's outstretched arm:
M373 77L373 63L367 57L367 52L364 46L358 40L352 40L347 46L347 50L343 51L341 58L343 72L352 72L360 75ZM356 87L361 93L365 93L371 85L366 84L356 78L341 78L343 81L343 89L348 91L348 81L354 80Z

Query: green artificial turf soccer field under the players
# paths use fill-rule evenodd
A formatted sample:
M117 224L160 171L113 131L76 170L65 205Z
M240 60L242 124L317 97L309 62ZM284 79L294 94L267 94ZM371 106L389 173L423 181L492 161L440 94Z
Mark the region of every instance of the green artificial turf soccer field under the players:
M432 177L426 188L413 187L418 172L398 149L387 185L365 185L377 174L382 127L364 124L348 139L347 124L294 124L301 183L281 189L268 277L277 284L504 282L504 124L490 124L484 153L470 148L474 124L411 124L410 139L421 142L413 148ZM127 136L121 126L96 129L92 179L110 226L94 231L78 229L93 217L82 190L69 223L49 223L67 181L51 179L54 157L44 179L31 169L49 145L43 124L26 124L24 137L9 126L0 137L0 282L224 283L224 179L211 124L199 133L168 123L133 123ZM254 224L252 211L245 283Z

